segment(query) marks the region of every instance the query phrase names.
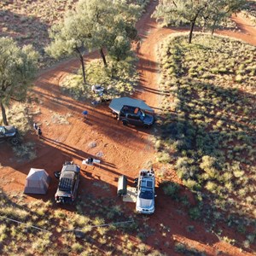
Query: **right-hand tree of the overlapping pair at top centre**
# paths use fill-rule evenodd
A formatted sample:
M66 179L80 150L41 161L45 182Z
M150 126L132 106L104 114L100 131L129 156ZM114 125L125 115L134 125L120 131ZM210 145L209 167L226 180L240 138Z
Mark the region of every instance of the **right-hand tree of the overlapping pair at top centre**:
M120 37L128 41L137 36L135 24L141 8L136 4L120 0L80 0L77 12L86 16L92 25L91 45L94 49L99 49L105 67L108 64L103 49L112 49Z

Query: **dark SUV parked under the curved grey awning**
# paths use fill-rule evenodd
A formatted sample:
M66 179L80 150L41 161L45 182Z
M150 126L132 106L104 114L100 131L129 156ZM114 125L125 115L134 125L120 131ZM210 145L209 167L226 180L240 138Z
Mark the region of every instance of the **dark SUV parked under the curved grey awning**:
M154 116L144 113L142 109L131 106L124 106L119 113L119 120L123 125L137 125L143 127L150 127L154 124Z

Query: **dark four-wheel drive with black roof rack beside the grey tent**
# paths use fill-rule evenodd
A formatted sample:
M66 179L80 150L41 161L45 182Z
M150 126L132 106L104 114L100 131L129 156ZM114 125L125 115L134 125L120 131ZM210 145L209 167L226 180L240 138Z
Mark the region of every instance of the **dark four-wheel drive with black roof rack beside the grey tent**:
M72 203L79 189L80 166L65 162L60 173L60 182L55 193L57 203Z

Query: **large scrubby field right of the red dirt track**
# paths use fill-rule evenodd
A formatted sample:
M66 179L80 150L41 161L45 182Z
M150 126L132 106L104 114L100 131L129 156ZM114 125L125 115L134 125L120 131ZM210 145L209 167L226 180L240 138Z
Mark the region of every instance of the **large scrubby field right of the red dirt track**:
M172 156L177 176L201 201L190 211L193 218L200 212L206 222L228 215L230 225L253 224L255 51L240 41L201 34L194 44L178 36L160 46L160 86L170 96L163 96L156 148L158 157Z

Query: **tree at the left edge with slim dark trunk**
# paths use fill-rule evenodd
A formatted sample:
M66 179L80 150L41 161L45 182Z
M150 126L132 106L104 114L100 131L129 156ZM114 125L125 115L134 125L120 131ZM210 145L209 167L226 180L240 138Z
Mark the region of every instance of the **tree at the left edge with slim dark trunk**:
M26 100L38 66L38 53L32 45L20 48L12 38L0 38L0 105L3 124L8 125L6 107Z

